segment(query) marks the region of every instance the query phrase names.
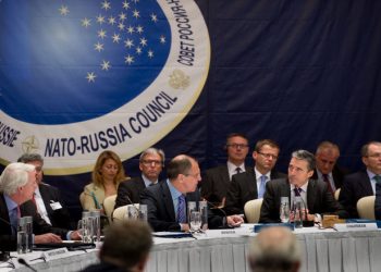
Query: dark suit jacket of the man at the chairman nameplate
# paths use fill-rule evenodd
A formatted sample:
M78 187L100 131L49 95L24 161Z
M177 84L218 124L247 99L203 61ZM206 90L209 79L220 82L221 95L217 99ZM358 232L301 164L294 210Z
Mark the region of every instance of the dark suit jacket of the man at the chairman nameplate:
M260 223L280 223L281 197L291 200L291 185L288 178L279 178L266 184L262 207L260 209ZM347 212L333 198L324 182L309 180L307 186L307 207L310 214L335 213L340 218L347 218Z

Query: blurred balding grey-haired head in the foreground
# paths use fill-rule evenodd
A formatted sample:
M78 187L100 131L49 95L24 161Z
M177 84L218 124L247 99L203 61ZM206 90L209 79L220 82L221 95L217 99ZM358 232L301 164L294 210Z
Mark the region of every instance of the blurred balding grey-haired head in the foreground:
M256 272L297 272L300 259L296 237L284 226L263 228L249 247L248 261Z

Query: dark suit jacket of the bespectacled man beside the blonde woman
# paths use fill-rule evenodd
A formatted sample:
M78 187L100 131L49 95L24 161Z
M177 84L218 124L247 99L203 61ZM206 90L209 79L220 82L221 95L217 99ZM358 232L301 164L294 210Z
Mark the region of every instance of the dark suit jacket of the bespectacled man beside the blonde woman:
M118 187L115 209L125 205L139 203L140 194L143 190L145 190L145 188L146 184L144 183L142 176L122 182Z

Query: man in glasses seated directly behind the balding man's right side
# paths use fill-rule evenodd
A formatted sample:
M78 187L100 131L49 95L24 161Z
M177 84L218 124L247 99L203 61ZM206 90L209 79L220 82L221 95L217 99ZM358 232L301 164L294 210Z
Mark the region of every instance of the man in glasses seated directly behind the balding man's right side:
M248 139L241 133L232 133L226 137L224 149L228 162L209 169L202 175L201 196L214 206L223 207L232 175L246 171L245 159L248 153Z

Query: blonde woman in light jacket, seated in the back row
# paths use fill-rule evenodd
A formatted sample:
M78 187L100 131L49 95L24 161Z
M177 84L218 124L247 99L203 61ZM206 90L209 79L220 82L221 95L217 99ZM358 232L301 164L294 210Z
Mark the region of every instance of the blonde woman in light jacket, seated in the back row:
M126 178L119 156L111 150L101 152L93 170L93 181L82 194L82 208L88 211L101 210L105 213L105 198L116 195L119 184Z

